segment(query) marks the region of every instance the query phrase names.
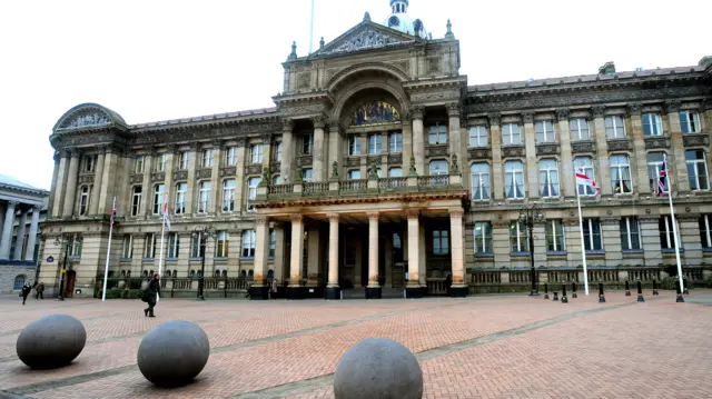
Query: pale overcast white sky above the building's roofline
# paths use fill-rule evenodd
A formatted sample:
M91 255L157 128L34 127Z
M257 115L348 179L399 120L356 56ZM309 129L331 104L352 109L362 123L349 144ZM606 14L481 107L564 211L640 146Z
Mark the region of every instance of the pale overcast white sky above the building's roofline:
M128 123L271 107L310 0L0 2L0 173L48 189L57 120L98 102ZM388 0L316 0L314 47ZM712 1L411 0L434 38L452 19L469 84L692 66L712 54Z

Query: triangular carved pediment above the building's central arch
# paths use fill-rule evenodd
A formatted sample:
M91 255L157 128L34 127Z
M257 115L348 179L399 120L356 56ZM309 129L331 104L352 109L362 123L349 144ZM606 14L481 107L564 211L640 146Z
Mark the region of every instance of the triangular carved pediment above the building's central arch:
M412 44L422 39L385 28L370 21L364 21L334 41L314 52L312 57L338 56L364 50L387 49Z

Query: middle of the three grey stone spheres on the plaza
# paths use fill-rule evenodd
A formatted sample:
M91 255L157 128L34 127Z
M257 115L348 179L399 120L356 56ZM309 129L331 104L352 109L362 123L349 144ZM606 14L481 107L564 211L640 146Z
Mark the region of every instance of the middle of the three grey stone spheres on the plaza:
M179 387L202 371L209 356L208 336L198 325L170 320L144 337L138 347L138 368L156 386Z

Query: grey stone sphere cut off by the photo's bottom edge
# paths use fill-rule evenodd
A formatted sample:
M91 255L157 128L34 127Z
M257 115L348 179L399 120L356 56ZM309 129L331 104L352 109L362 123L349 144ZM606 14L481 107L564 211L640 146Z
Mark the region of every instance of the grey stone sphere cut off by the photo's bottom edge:
M336 399L423 398L423 370L403 345L369 338L349 349L334 373Z

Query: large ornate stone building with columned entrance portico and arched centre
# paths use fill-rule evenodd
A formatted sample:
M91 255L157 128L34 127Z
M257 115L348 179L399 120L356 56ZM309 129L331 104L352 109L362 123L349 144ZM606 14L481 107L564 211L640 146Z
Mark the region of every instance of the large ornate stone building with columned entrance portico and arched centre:
M530 285L517 220L537 203L536 279L583 281L580 190L591 280L659 279L674 265L668 200L652 193L665 153L683 263L694 280L708 273L712 59L468 86L449 22L433 39L408 1L389 2L385 23L366 14L306 57L293 46L275 108L140 124L93 103L69 110L50 137L43 257L72 251L71 288L93 287L116 197L110 275L158 271L167 199L174 280L205 259L206 277L244 276L254 297L273 278L291 298L464 296Z

